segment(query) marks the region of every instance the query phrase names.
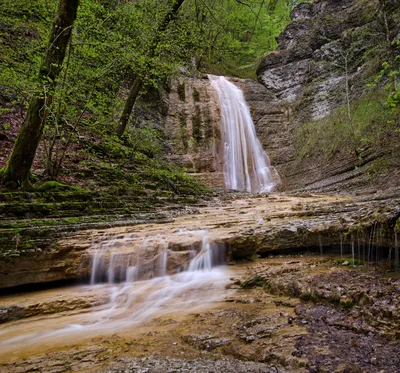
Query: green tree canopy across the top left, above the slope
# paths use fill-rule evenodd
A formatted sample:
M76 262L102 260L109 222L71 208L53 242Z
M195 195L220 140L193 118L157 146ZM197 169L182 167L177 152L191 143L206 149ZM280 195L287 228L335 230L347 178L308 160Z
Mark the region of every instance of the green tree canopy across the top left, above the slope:
M157 35L168 0L157 6L152 0L82 0L52 105L53 122L71 124L85 110L83 123L108 131L120 114L125 100L121 88L127 81L140 76L145 85L158 86L193 61L207 72L246 76L250 69L253 75L298 2L186 0L178 19ZM0 100L26 104L35 88L56 2L3 3ZM155 37L159 43L149 55Z

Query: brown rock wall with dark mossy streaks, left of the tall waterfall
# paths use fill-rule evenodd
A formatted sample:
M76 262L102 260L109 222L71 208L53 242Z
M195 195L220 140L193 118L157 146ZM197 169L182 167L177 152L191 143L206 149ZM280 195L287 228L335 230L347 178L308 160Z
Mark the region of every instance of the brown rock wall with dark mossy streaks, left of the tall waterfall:
M206 184L223 187L218 98L208 79L181 78L170 84L164 127L165 157Z

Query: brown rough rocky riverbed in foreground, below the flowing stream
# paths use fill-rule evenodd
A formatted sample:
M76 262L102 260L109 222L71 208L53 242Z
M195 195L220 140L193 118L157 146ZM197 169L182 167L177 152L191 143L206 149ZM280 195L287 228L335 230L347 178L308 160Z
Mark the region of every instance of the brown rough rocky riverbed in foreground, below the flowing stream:
M399 371L400 280L393 273L343 265L330 255L271 257L229 270L232 277L220 298L198 310L173 310L141 324L83 334L68 342L38 339L25 349L16 344L13 351L3 350L0 370ZM71 291L69 298L63 291L59 298L66 300L58 303L55 314L46 315L47 307L36 307L36 315L14 321L16 327L29 330L38 319L46 325L66 312L88 312L88 294L76 293L73 302ZM56 292L53 298L48 295L21 295L14 304L25 298L31 308L35 298L42 306L43 299L54 304ZM82 303L82 298L87 300ZM5 303L8 308L13 304L10 298ZM77 306L71 309L71 304ZM0 331L11 324L3 324Z

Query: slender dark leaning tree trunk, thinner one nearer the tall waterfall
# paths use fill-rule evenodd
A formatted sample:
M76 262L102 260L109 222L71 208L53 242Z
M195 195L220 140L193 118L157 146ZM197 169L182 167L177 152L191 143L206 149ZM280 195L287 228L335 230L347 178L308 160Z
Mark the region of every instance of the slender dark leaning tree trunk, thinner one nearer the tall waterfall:
M181 5L184 3L185 0L172 0L172 6L171 9L168 11L168 13L165 15L163 21L161 22L156 36L154 37L153 42L151 43L151 46L149 48L149 53L148 57L151 59L154 57L154 53L156 51L156 48L158 46L158 43L160 42L160 38L162 33L167 29L168 24L176 17L179 8ZM124 110L122 112L121 118L119 120L118 126L117 126L117 136L121 137L126 129L126 126L129 121L129 117L132 114L133 107L135 106L136 98L139 95L140 89L142 88L143 81L139 77L137 77L129 91L129 96L128 99L125 102Z

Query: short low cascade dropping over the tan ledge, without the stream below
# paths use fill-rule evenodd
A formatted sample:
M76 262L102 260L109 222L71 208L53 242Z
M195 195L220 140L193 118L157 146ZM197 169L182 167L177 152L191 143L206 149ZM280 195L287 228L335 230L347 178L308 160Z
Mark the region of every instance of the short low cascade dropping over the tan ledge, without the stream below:
M97 244L92 249L91 284L149 280L184 270L209 271L224 264L225 248L210 242L207 231L179 230L174 234L193 237L198 249L170 251L168 240L161 236L149 237L133 248L130 247L135 238L132 235Z

